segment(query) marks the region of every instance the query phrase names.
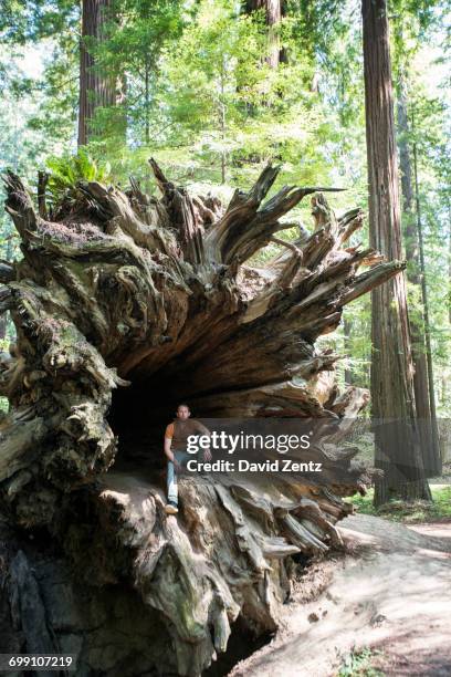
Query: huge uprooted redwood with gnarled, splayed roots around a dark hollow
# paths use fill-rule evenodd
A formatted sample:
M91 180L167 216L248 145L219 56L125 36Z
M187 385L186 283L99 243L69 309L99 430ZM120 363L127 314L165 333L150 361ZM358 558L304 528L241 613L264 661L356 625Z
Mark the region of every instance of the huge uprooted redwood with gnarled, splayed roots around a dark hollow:
M0 648L70 652L80 674L198 675L234 623L277 627L293 556L339 543L340 496L368 471L335 445L316 450L346 478L331 486L185 478L176 519L164 512L164 425L180 399L198 417L355 417L367 392L340 393L338 356L315 341L402 269L347 247L363 215L336 218L327 189L266 198L275 167L227 208L151 167L160 199L135 181L81 183L50 212L4 177L23 258L0 267L17 329L0 364ZM308 195L313 231L280 240ZM280 253L250 262L270 242ZM127 464L139 449L148 462Z

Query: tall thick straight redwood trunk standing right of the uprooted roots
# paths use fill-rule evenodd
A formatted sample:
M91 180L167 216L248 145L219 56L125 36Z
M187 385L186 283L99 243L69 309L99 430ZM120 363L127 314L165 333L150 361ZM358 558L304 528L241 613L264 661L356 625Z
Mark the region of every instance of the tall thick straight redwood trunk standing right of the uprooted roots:
M398 167L385 0L363 0L365 111L368 154L370 244L401 258ZM371 399L377 481L375 504L390 498L430 499L416 429L413 366L403 275L371 293Z

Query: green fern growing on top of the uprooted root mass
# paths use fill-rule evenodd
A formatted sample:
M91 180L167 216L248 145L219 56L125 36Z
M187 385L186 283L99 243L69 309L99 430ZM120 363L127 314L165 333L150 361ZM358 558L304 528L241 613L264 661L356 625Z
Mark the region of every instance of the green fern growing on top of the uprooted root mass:
M75 200L80 181L106 181L111 174L108 162L95 160L85 148L78 148L76 155L50 157L48 195L53 204L63 200Z

